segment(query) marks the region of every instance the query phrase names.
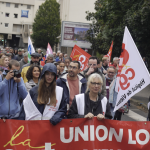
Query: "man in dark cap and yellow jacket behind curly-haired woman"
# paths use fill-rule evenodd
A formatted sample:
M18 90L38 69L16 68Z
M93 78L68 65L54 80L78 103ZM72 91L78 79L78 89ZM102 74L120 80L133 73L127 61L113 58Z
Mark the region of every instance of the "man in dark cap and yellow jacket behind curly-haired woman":
M38 53L32 53L30 63L27 63L27 64L22 66L21 76L24 80L24 83L26 83L28 81L27 78L26 78L26 73L27 73L27 71L28 71L28 69L31 65L35 64L35 65L39 65L41 68L43 68L40 65L39 57L40 57L40 55Z

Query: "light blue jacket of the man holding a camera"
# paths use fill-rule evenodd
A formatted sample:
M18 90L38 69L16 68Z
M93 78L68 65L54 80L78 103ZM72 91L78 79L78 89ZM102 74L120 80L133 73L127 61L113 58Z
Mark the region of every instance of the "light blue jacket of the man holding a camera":
M23 79L16 83L13 78L6 80L0 75L0 117L11 118L20 111L19 98L24 99L27 96Z

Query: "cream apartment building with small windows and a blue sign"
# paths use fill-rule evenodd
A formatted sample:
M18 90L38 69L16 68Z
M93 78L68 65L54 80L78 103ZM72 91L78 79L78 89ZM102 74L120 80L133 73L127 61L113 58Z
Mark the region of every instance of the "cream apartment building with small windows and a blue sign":
M0 35L5 46L27 47L37 10L45 0L0 0Z

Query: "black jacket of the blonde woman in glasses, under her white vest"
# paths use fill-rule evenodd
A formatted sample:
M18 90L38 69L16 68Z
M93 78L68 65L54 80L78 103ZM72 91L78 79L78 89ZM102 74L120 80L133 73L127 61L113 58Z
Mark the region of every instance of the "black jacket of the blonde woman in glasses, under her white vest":
M91 108L89 93L85 93L84 98L85 98L84 99L84 101L85 101L84 115L78 114L76 97L75 97L73 102L72 102L72 105L69 109L68 118L84 118L84 116L87 115L88 113L92 113L94 116L97 116L98 114L103 114L101 100L104 98L104 96L102 94L98 95L98 101L97 101L96 106L94 108ZM112 115L110 112L109 102L107 102L105 117L109 118L109 119L112 118Z

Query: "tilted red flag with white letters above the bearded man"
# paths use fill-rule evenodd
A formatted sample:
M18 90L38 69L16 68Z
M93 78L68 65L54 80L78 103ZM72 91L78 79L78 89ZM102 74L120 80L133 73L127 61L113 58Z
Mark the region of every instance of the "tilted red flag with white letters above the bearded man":
M87 68L88 60L91 57L91 55L85 52L77 45L75 45L70 57L72 58L72 60L77 60L81 63L81 71L83 71Z

